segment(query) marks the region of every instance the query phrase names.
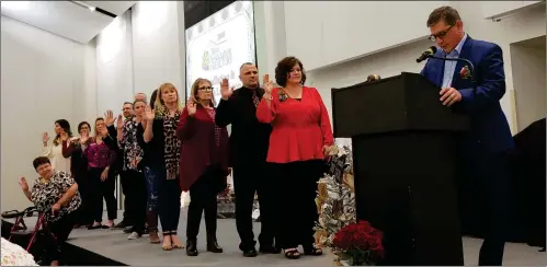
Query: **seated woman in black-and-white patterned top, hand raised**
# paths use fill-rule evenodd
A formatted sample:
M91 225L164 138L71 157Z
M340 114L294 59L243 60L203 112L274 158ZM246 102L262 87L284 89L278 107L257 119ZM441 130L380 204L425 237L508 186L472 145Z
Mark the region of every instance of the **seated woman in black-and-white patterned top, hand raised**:
M19 184L39 212L46 214L49 230L57 237L47 246L52 266L58 266L62 246L72 231L75 214L81 205L78 184L70 174L53 169L46 156L36 158L32 164L39 177L34 182L32 190L25 177L21 177Z

